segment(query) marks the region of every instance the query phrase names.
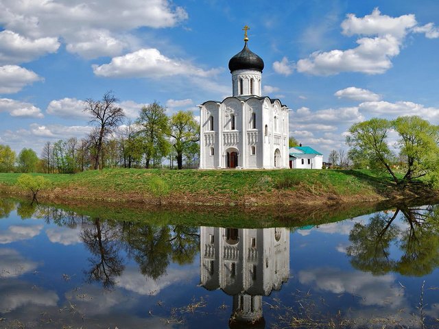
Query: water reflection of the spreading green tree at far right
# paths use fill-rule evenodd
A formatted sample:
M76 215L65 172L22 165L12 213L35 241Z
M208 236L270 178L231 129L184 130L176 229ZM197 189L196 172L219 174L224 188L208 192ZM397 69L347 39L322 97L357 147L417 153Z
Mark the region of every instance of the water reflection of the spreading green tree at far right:
M401 213L405 225L396 226ZM366 225L356 223L349 240L346 251L357 269L423 276L439 266L439 209L400 206L394 214L374 215ZM391 257L392 245L401 249L399 259Z

